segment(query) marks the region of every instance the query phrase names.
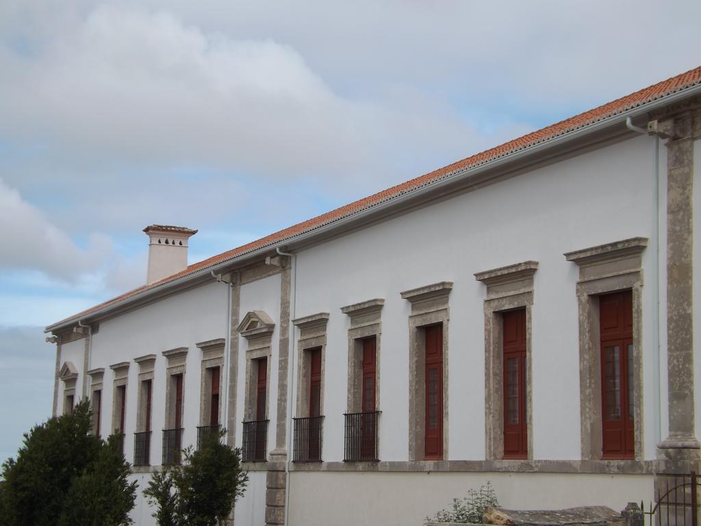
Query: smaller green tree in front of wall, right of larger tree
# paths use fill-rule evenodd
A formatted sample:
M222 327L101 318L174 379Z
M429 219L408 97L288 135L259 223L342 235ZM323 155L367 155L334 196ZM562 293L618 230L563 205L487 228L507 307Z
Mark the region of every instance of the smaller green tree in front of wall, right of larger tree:
M212 434L193 451L184 450L183 462L155 473L144 495L156 506L159 526L217 526L243 497L248 482L241 469L241 452L222 443L225 431Z

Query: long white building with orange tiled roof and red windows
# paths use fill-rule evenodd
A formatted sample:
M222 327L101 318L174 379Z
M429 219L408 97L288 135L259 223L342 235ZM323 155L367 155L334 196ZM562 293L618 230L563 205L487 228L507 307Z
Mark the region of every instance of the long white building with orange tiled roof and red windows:
M92 398L142 488L223 424L240 525L418 525L486 480L510 508L648 501L701 467L700 81L189 267L195 231L148 227L149 284L47 328L54 413Z

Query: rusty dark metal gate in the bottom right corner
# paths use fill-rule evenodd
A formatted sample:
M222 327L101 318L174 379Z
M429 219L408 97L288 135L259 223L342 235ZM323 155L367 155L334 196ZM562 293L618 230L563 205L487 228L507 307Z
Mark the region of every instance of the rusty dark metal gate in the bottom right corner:
M665 478L665 484L660 483L662 487L658 485L655 490L655 504L651 502L645 511L644 502L640 503L641 510L648 515L649 526L699 526L698 487L701 482L696 472Z

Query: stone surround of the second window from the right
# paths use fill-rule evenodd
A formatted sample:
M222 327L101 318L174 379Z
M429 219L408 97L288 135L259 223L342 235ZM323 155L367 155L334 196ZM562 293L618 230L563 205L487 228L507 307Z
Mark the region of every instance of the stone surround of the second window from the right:
M504 388L502 313L526 309L526 460L533 459L533 275L538 262L521 263L478 272L486 285L484 299L484 433L488 460L504 459ZM521 463L523 460L506 460Z

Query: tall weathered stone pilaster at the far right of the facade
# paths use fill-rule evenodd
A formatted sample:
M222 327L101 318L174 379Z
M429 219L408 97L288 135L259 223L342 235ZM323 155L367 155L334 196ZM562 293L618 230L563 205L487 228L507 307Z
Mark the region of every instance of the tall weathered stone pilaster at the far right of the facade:
M697 103L698 101L696 101ZM694 429L693 157L701 112L676 108L648 125L667 138L667 385L669 436L658 445L662 471L700 458ZM687 466L688 467L688 466Z

